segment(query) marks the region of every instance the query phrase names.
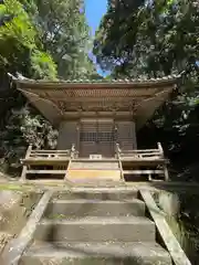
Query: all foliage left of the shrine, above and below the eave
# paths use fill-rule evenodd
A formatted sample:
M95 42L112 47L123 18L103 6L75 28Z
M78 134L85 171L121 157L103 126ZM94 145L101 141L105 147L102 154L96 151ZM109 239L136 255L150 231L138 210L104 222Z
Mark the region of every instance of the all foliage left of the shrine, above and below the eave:
M98 78L87 55L93 40L83 9L81 0L4 0L0 4L0 88L9 86L8 72L35 80ZM18 172L29 144L55 148L57 131L35 109L24 107L25 99L14 88L3 95L0 89L0 161L6 171Z

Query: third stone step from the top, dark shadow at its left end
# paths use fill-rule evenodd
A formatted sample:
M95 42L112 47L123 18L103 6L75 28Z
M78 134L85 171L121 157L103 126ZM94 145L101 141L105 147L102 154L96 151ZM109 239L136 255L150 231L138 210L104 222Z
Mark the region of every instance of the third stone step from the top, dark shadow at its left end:
M67 242L151 242L155 241L155 224L147 218L69 218L44 219L36 227L35 241Z

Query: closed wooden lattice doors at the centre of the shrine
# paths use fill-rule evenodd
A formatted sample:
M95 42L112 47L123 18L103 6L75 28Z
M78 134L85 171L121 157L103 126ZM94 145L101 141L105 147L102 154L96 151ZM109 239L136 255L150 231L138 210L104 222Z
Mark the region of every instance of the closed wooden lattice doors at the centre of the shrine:
M83 119L80 127L80 157L114 157L116 130L113 119Z

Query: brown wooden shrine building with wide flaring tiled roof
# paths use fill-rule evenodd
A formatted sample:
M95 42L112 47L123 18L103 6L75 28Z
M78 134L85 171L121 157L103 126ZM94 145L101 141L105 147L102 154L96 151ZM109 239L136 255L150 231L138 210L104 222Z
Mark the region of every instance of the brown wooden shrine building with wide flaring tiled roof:
M15 78L14 82L59 130L56 149L60 153L71 150L75 159L104 161L116 159L119 153L125 157L130 150L128 159L133 159L136 150L142 153L136 134L169 98L179 78L180 75L156 80L49 82Z

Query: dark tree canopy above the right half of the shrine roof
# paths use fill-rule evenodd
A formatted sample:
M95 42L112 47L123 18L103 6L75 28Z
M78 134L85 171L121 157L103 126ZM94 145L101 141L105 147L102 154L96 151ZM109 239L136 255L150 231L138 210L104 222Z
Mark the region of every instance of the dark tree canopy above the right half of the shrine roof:
M96 34L94 52L102 66L115 68L116 75L153 77L193 66L199 56L195 2L116 2Z

